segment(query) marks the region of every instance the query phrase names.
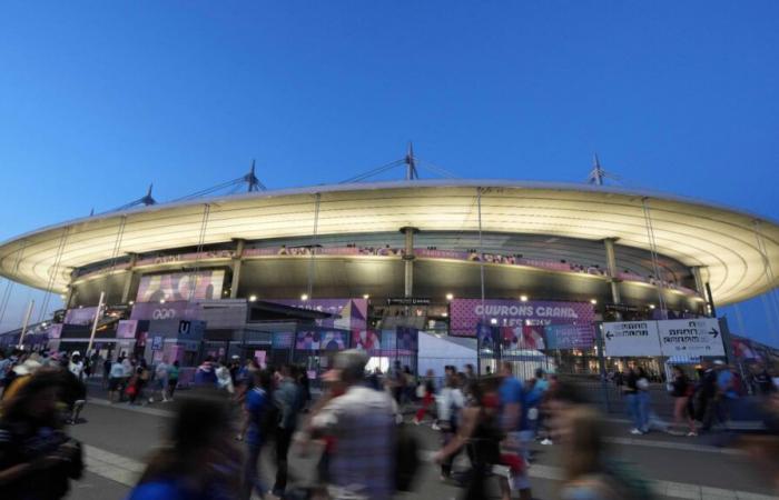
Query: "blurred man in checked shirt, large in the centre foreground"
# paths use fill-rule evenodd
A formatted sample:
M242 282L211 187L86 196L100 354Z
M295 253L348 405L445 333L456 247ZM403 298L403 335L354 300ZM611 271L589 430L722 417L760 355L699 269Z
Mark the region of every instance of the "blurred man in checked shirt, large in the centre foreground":
M388 394L363 384L366 362L356 349L335 354L324 377L333 383L333 397L322 402L302 437L333 438L333 499L389 500L395 491L395 407Z

